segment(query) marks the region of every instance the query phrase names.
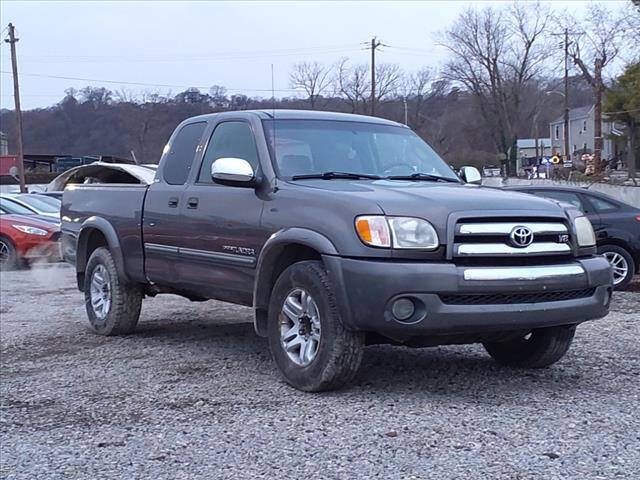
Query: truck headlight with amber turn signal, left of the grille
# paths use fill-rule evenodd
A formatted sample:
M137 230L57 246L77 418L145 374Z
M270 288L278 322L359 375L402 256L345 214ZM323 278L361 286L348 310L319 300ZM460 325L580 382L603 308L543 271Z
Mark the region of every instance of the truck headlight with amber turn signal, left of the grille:
M366 215L356 218L356 232L365 244L373 247L438 248L438 234L422 218ZM393 242L392 242L393 240Z

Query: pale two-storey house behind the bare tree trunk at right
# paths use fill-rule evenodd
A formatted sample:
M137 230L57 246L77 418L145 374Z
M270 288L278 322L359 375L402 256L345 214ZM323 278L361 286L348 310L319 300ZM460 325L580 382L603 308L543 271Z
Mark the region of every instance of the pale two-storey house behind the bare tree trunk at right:
M569 149L574 154L593 153L593 105L578 107L569 110ZM549 124L551 133L551 149L553 154L565 155L564 151L564 115L556 118ZM602 159L612 160L620 157L624 150L621 141L617 141L622 132L615 128L614 122L602 118Z

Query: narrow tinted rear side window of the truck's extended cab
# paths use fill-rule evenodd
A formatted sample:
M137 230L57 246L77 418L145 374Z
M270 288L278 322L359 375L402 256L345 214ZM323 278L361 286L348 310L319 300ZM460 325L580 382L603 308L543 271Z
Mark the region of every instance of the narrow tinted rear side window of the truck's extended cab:
M171 185L187 181L191 164L196 155L206 122L190 123L180 129L171 143L171 151L165 159L164 179Z

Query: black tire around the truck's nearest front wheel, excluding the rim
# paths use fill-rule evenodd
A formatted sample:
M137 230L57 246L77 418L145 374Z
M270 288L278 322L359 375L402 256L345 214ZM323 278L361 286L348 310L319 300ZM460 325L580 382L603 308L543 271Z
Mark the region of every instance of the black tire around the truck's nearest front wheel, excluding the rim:
M282 308L289 294L303 289L316 303L321 335L315 357L301 366L285 352L280 336ZM322 262L289 266L271 292L268 318L271 353L284 380L298 390L320 392L343 387L355 377L364 351L364 332L349 329L340 318L335 295Z

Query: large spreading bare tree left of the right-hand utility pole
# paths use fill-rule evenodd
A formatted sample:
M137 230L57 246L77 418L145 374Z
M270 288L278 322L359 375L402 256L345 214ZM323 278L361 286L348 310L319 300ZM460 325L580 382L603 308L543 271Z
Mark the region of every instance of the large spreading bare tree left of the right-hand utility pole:
M441 40L451 53L444 78L462 84L505 155L516 140L526 87L548 58L550 11L541 4L469 9Z

